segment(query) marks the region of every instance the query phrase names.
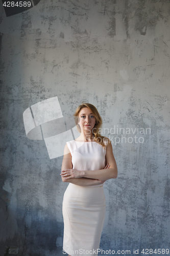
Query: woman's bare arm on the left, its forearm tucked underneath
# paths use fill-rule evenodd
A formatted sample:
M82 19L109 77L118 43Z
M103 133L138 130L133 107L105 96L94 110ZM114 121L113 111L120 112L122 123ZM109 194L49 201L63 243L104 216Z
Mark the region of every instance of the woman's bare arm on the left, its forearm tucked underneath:
M63 162L61 166L61 170L64 169L72 169L72 162L71 162L71 154L68 150L67 144L64 148L64 157ZM93 186L93 185L99 185L103 184L104 181L97 180L97 179L89 179L89 178L71 178L71 179L65 179L64 177L61 177L63 182L70 182L75 185L79 186Z

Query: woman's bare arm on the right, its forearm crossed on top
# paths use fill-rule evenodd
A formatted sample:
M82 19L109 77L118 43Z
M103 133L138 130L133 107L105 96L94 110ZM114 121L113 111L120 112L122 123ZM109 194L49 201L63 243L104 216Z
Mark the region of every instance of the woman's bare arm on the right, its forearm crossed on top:
M100 170L75 170L71 168L62 168L62 179L71 180L77 178L89 178L98 179L101 181L106 181L109 179L117 178L117 165L115 158L113 156L112 144L109 140L106 150L106 163L109 167L105 167ZM71 165L72 166L72 165ZM107 166L107 165L106 165Z

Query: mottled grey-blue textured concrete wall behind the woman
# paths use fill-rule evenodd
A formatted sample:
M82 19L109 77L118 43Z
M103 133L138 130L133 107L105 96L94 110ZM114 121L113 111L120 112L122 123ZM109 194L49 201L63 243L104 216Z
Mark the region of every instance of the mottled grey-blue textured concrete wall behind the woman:
M8 17L0 7L0 254L62 255L62 156L28 139L22 117L55 96L70 120L94 104L112 141L119 174L105 184L101 248L169 248L169 1L41 0Z

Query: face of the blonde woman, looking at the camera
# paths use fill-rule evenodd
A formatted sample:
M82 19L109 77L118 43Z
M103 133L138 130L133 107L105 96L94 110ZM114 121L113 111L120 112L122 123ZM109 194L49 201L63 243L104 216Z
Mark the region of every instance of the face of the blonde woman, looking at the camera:
M83 108L78 115L81 131L91 131L95 125L96 118L89 108ZM91 133L91 132L90 132Z

